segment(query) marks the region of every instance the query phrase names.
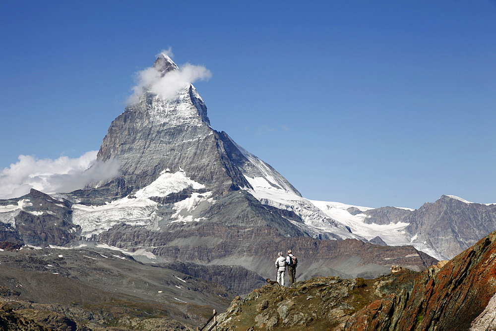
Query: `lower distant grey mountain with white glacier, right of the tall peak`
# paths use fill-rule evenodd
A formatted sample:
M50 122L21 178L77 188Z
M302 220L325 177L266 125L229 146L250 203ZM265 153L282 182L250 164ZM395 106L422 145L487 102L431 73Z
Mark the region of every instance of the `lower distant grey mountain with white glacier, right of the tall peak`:
M496 230L496 204L478 204L443 195L417 210L377 209L312 201L328 217L365 239L387 245L412 245L438 260L449 260Z

